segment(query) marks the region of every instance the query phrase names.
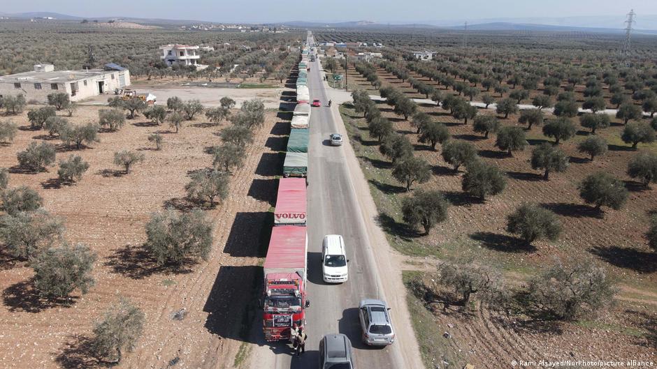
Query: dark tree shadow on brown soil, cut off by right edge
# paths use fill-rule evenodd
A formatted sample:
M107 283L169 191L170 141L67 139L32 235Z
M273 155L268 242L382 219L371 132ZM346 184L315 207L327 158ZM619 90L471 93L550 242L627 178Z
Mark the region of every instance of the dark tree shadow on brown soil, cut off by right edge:
M594 246L591 253L609 264L639 273L657 271L657 254L622 246Z

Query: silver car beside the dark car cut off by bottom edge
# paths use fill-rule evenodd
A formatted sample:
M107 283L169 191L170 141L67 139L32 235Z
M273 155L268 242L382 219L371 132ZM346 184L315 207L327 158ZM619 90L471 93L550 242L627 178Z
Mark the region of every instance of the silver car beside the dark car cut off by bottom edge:
M381 300L365 299L358 308L363 343L371 346L392 345L395 342L395 332L387 304Z

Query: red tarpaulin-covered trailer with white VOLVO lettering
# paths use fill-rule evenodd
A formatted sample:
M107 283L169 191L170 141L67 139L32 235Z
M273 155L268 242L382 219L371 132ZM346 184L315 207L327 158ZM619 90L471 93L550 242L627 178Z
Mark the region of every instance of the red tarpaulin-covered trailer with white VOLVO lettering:
M282 178L278 181L278 196L274 211L275 225L305 225L305 179Z

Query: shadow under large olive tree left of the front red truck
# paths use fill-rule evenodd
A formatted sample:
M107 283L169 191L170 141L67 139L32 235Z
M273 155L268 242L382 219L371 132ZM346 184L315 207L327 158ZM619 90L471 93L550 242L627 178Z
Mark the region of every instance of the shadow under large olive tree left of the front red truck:
M143 279L155 273L191 273L192 269L190 266L196 263L195 260L189 259L183 262L182 266L159 265L145 246L132 246L128 244L114 250L114 253L107 257L103 265L112 269L114 273L121 274L127 278Z

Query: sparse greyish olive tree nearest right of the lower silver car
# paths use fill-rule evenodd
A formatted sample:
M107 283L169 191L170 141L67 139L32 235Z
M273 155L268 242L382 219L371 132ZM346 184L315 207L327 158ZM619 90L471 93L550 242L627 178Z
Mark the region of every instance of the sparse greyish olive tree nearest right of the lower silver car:
M475 263L438 265L440 283L451 287L459 295L460 306L468 306L472 296L486 305L496 305L504 299L505 283L502 273Z

